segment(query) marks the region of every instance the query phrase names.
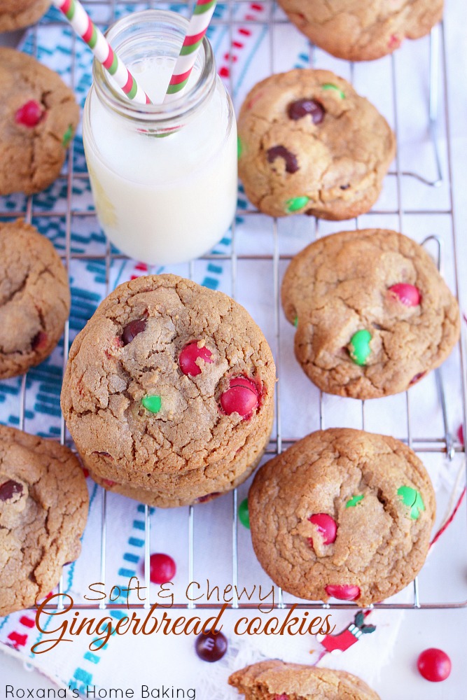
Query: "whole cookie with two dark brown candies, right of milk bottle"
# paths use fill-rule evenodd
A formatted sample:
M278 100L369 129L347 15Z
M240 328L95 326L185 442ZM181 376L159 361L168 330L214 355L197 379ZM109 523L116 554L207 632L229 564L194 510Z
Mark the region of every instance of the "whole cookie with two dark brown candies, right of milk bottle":
M384 117L329 71L295 69L262 80L242 105L238 133L246 196L271 216L363 214L396 150Z

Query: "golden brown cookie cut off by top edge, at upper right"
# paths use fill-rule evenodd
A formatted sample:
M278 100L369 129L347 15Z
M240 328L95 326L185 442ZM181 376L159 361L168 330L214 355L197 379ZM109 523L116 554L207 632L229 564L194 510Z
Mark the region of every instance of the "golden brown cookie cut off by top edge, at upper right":
M443 0L279 0L313 43L338 58L368 61L428 34Z

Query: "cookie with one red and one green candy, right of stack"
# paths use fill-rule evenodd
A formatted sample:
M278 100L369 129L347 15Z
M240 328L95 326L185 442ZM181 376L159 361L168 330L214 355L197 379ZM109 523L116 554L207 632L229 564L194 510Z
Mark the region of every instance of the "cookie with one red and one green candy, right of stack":
M395 231L318 239L295 255L281 293L297 325L295 356L328 393L365 399L406 391L459 339L459 307L435 263ZM364 342L363 333L359 363L353 343Z

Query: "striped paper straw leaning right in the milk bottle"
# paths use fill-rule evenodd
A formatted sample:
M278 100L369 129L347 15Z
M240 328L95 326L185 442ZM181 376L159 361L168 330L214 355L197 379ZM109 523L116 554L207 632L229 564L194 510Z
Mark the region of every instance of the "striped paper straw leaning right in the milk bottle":
M181 92L185 90L195 65L197 52L200 50L204 34L206 34L215 9L216 0L197 0L180 55L176 59L174 73L170 78L164 102L170 102L170 100L179 97Z

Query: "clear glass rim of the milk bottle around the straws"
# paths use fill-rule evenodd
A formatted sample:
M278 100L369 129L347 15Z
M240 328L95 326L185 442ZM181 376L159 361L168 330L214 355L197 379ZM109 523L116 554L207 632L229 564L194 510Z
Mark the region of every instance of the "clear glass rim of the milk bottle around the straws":
M180 48L183 37L188 29L188 20L174 13L171 10L139 10L126 15L107 29L104 33L112 48L120 55L120 45L118 38L123 38L125 31L130 30L134 25L141 23L163 25L180 33ZM136 38L136 36L133 38ZM130 45L130 41L126 41ZM124 59L127 64L127 59ZM162 104L139 104L123 94L118 87L111 83L108 71L104 66L94 59L92 62L92 76L94 87L99 99L112 111L129 120L137 123L151 124L154 128L173 128L180 119L186 119L209 97L214 91L216 84L216 61L211 44L204 36L200 50L197 52L196 64L199 69L197 80L193 85L184 90L180 97L172 99L170 102Z

